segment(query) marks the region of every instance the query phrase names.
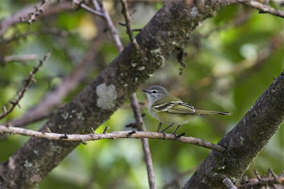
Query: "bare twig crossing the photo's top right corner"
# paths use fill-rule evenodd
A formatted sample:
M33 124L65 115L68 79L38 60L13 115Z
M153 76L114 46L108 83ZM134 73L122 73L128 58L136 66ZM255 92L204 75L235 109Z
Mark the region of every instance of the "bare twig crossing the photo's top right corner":
M258 1L254 0L237 0L237 1L247 6L251 6L252 8L256 8L259 11L259 13L270 13L274 16L279 16L281 18L284 18L284 11L280 11L278 9L272 8L271 6L261 4Z

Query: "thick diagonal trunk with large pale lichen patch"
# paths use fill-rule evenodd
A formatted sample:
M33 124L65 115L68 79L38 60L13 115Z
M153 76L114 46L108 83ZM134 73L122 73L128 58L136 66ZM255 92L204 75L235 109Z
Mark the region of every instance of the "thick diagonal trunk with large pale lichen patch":
M166 1L136 37L145 57L129 44L91 84L51 118L40 130L75 134L96 129L136 91L165 59L189 38L219 1ZM0 165L0 188L34 188L80 142L31 138Z

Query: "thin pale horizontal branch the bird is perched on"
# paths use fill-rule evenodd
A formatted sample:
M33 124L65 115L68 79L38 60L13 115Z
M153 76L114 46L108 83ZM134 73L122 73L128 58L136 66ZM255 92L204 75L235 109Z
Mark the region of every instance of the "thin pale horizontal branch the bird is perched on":
M30 137L38 137L45 139L60 139L60 137L65 136L65 134L60 133L49 133L49 132L38 132L34 130L26 130L20 127L9 127L5 125L0 125L0 132L7 132L12 134L21 134L24 136ZM96 133L96 134L66 134L67 138L62 140L66 141L94 141L99 139L122 139L122 138L133 138L133 139L164 139L164 134L160 132L147 132L147 131L136 131L136 133L131 134L129 136L129 132L132 131L118 131L118 132L107 132L107 133ZM197 139L194 137L180 137L175 139L174 134L165 134L165 139L178 141L182 143L195 144L200 147L204 147L207 149L212 149L214 151L222 152L224 151L224 147L221 147L217 144L213 144L211 142L207 142L204 139Z

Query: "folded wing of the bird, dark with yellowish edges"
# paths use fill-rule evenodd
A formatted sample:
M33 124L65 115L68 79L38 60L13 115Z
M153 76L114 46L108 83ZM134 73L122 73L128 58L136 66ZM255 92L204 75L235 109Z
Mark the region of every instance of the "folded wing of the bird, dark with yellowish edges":
M182 113L195 115L195 108L182 101L170 101L169 103L158 103L153 105L155 112Z

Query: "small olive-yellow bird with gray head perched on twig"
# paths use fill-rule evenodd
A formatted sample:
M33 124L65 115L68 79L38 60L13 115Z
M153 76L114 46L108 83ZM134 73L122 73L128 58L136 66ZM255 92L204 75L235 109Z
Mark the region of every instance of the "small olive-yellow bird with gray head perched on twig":
M188 105L180 100L180 98L171 96L170 93L163 88L163 86L151 86L150 88L143 89L142 91L146 93L149 101L149 113L155 119L160 121L157 132L160 132L162 123L169 125L161 131L162 133L173 125L178 125L178 127L175 129L175 132L177 132L180 125L187 123L191 118L194 118L194 115L202 116L205 114L232 114L212 110L197 110L192 105ZM173 134L175 134L175 132L173 132ZM175 137L178 138L183 135L185 135L185 132L178 135L175 134Z

